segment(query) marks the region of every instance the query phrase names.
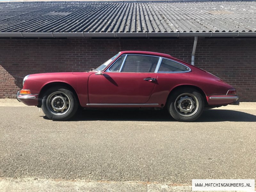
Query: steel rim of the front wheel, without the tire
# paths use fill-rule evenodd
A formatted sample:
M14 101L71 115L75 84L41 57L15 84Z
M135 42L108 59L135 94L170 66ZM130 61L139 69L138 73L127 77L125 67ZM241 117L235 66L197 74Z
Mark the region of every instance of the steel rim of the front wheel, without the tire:
M64 92L53 92L46 99L46 107L53 115L64 115L70 108L70 98Z

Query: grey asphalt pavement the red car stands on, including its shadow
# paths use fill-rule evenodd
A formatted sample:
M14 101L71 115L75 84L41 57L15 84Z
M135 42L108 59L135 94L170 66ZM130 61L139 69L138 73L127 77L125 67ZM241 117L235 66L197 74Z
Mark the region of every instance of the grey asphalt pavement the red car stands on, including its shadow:
M256 103L207 109L192 123L164 110L82 110L63 122L3 100L0 178L170 186L256 179L255 122Z

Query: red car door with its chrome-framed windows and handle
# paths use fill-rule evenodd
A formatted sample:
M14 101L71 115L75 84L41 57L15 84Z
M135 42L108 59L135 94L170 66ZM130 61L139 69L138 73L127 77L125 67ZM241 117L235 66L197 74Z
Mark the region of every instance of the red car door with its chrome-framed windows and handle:
M157 84L159 60L148 55L122 55L102 75L89 77L89 103L146 103Z

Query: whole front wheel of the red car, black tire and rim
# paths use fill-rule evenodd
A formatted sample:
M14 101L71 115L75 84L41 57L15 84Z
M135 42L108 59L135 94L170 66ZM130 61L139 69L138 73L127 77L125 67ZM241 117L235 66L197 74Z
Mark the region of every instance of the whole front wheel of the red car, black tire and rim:
M67 120L75 115L77 108L76 95L67 87L51 87L43 95L42 110L49 119Z

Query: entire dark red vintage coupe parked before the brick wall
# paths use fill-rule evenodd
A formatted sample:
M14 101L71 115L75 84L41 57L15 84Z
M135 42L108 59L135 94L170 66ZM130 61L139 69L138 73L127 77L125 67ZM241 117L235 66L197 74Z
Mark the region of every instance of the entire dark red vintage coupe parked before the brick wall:
M238 104L220 78L168 54L123 51L88 72L28 75L17 99L66 120L77 108L165 108L178 121L194 121L204 108Z

